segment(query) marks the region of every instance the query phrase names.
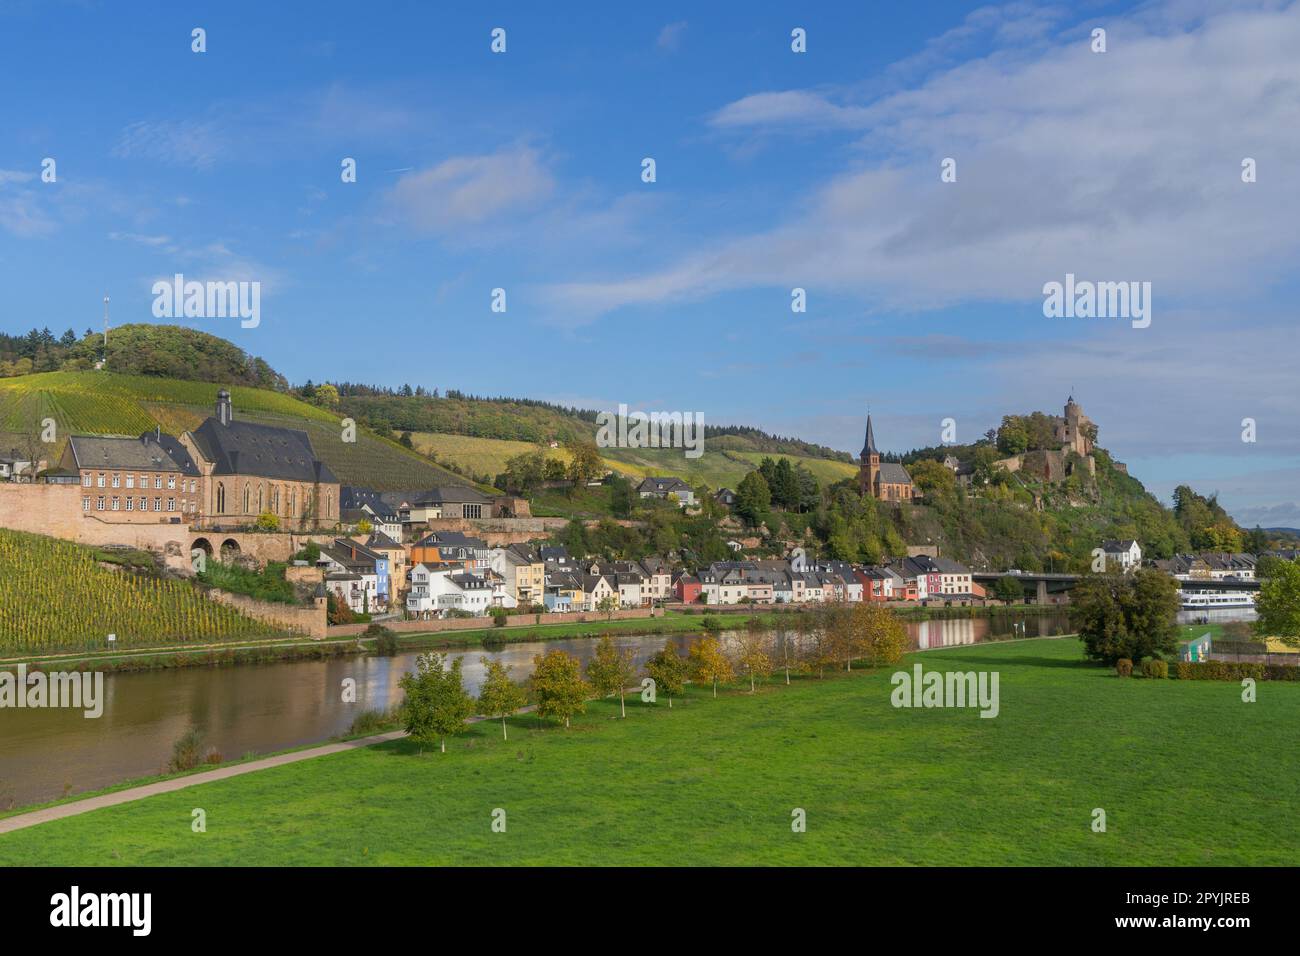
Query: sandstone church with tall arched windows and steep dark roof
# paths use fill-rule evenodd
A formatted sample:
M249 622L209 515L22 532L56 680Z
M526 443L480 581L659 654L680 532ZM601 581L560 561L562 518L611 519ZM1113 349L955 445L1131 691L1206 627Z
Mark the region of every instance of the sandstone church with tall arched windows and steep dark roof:
M225 389L217 393L216 412L178 442L204 479L203 520L247 524L269 511L290 529L338 522L338 479L306 432L237 421Z

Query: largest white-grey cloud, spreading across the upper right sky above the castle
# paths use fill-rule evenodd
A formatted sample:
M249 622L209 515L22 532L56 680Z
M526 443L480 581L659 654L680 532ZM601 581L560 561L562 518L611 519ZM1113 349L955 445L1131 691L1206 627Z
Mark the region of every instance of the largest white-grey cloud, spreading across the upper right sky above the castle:
M737 100L715 127L850 129L857 157L792 196L783 222L660 269L558 284L552 298L594 316L801 285L916 310L1031 303L1074 272L1152 281L1157 308L1238 302L1300 251L1300 190L1284 172L1300 155L1300 7L1180 29L1171 17L1109 17L1104 55L1076 31L868 103L807 90ZM939 179L945 156L956 183ZM1244 156L1260 161L1254 185L1240 181Z

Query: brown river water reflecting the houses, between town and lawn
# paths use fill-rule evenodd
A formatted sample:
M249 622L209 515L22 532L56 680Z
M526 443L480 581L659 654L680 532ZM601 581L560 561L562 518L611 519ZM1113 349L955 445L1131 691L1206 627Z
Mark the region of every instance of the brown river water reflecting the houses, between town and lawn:
M909 622L915 649L976 644L1008 637L1067 633L1063 611L1026 617ZM724 639L727 632L723 633ZM781 635L777 635L779 637ZM699 635L614 635L637 663L667 641L685 652ZM532 671L536 654L567 650L586 661L589 637L471 648L463 659L465 689L478 693L480 658L503 661L515 680ZM98 790L160 773L172 745L191 727L226 760L270 753L344 734L363 710L387 710L402 698L399 680L415 669L416 653L330 661L233 665L104 675L103 715L81 710L0 710L0 808ZM343 702L343 680L356 682L356 702Z

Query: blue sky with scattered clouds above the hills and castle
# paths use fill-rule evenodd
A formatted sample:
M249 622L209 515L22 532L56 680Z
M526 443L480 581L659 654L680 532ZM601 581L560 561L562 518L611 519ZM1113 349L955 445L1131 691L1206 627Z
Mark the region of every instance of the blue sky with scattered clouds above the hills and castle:
M191 324L294 381L850 451L1072 392L1156 493L1300 525L1296 3L282 7L0 8L0 328L251 280L257 328ZM1066 273L1150 326L1044 317Z

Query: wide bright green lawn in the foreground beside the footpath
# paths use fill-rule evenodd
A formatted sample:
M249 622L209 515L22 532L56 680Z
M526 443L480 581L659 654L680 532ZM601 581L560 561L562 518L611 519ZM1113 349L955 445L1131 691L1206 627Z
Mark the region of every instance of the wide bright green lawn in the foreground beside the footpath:
M893 669L629 701L627 721L602 701L567 732L480 724L447 754L398 741L47 823L0 836L0 865L1295 862L1296 684L1243 704L1119 679L1074 639L913 661L997 671L1000 715L894 709Z

